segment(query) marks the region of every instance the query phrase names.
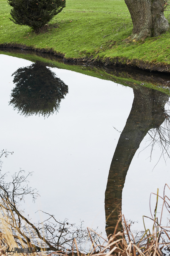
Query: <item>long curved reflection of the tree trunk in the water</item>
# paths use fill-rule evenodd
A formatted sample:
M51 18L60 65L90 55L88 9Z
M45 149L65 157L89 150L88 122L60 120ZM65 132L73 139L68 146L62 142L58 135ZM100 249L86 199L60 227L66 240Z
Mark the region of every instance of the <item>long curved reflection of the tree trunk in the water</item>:
M134 100L125 128L120 135L108 175L105 191L105 216L107 236L114 233L119 213L122 211L122 189L130 163L141 141L150 128L164 121L164 105L168 96L147 87L133 89ZM122 230L119 224L118 230Z

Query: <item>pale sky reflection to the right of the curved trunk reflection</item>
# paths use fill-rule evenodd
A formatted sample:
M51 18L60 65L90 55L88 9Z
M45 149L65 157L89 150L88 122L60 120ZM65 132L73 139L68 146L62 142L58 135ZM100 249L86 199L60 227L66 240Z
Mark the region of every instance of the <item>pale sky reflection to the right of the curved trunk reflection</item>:
M139 227L141 230L143 229L142 216L145 215L151 217L149 209L150 193L157 193L157 188L159 188L159 195L163 197L165 183L167 183L170 186L170 160L167 159L167 163L165 163L163 157L161 157L160 161L158 162L159 157L161 155L161 151L159 148L155 148L156 150L153 150L151 162L151 148L146 148L144 151L142 151L142 149L145 148L146 145L148 145L148 143L146 143L148 137L149 136L147 135L144 138L144 140L140 144L139 149L136 151L136 154L127 172L125 186L122 195L122 212L126 213L125 217L127 219L139 221L140 225L134 225L134 229L137 229ZM158 164L156 165L156 163ZM155 165L156 167L154 168ZM170 192L168 191L168 189L166 189L166 191L167 196L169 196ZM162 203L163 200L159 199L157 209L157 217L159 218L159 220L159 213L161 212ZM155 206L156 195L152 195L152 214L154 213ZM134 209L133 218L131 217L132 209ZM166 225L166 218L170 218L170 215L167 216L167 212L164 211L163 216L165 216L165 218L163 218L162 223ZM145 221L147 225L149 225L149 223L152 223L148 219L145 219Z

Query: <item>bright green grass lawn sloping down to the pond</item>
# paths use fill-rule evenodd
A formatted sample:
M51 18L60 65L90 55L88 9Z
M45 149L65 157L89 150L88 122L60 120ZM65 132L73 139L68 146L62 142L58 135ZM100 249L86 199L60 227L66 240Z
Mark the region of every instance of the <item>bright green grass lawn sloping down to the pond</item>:
M6 0L0 0L0 4L0 44L22 44L57 52L65 58L131 63L159 71L170 69L169 32L144 42L123 41L132 32L124 0L67 0L66 8L51 21L51 29L41 35L12 23L8 19L10 6Z

